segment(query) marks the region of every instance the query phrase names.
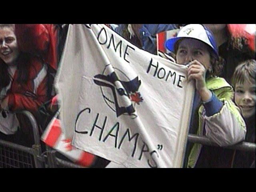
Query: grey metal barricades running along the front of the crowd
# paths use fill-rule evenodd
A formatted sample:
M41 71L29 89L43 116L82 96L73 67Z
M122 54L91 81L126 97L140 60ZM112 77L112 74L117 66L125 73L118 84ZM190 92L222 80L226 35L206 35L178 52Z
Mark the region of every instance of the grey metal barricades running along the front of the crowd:
M28 111L22 111L19 112L19 114L25 115L30 120L30 123L32 125L34 144L32 145L32 148L29 148L18 144L14 144L12 142L0 140L0 168L85 168L59 158L56 155L58 152L52 148L46 147L46 151L42 153L42 148L40 144L40 134L36 119ZM188 141L207 146L220 147L216 143L210 141L205 136L188 134ZM240 142L236 145L225 146L222 148L255 152L256 144Z

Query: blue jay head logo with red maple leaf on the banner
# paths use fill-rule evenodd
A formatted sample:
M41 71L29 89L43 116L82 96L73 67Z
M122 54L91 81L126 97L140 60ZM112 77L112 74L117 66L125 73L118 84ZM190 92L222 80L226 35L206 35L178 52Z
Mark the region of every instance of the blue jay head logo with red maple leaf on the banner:
M141 81L139 77L130 78L120 69L107 65L102 74L95 75L94 83L100 86L104 101L116 117L129 115L136 118L135 106L143 101L138 92Z

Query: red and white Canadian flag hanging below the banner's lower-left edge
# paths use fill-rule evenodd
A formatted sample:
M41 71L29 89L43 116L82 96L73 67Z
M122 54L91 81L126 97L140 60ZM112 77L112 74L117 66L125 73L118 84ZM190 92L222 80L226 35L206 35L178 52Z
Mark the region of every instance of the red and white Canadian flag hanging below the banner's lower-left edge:
M72 139L65 137L60 127L60 119L57 117L58 113L51 120L41 140L76 164L90 167L94 162L95 156L71 145Z

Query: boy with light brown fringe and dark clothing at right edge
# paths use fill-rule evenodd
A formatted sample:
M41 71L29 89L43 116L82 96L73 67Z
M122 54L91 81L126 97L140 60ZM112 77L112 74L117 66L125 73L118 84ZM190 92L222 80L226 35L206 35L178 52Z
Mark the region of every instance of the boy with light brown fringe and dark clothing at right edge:
M235 88L234 100L240 108L246 122L245 142L255 143L255 108L256 108L256 62L246 60L238 65L232 77ZM254 164L253 164L254 162ZM234 168L255 168L255 152L235 150Z

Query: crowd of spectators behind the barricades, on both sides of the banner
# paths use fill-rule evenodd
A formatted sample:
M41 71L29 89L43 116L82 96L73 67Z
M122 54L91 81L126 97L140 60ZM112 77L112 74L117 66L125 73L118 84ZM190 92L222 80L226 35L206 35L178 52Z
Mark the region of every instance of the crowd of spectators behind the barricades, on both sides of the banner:
M219 146L255 143L255 25L106 24L140 49L158 54L157 34L179 30L165 42L172 60L195 80L190 134ZM31 146L31 112L40 134L58 110L53 82L68 24L0 24L0 139ZM109 161L95 158L91 167ZM255 152L188 142L184 167L255 168Z

